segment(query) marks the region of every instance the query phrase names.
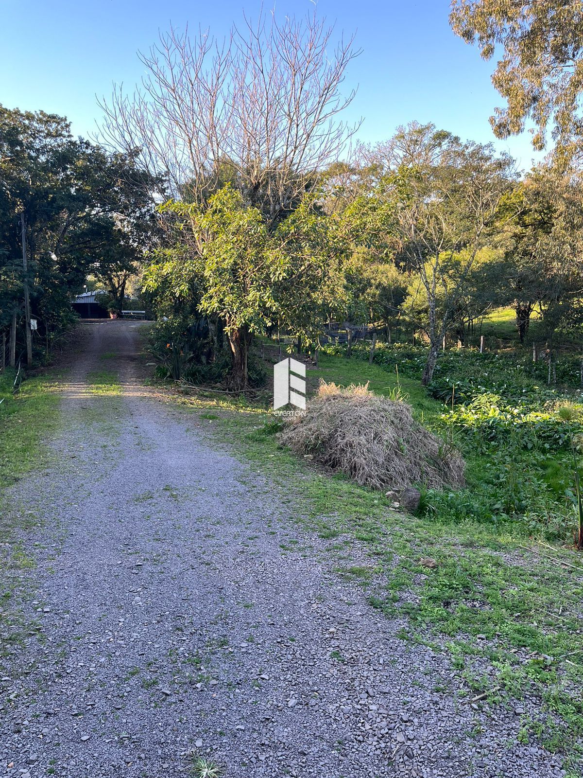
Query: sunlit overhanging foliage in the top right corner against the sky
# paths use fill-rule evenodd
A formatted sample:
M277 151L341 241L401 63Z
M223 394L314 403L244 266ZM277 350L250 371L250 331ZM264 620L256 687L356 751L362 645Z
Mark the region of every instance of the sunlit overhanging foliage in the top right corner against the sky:
M517 135L531 120L535 149L547 128L560 156L583 143L583 9L576 0L453 0L452 29L480 47L484 59L501 52L492 83L507 101L490 124L498 138Z

